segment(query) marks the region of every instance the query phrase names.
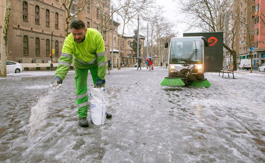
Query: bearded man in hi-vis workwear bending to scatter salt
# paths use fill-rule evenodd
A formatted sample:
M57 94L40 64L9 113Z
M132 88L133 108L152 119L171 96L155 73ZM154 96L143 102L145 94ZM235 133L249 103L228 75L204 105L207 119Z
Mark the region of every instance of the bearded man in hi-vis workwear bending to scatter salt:
M64 40L55 78L51 82L50 87L52 89L61 87L62 81L69 71L72 59L74 58L74 80L79 126L88 127L88 70L90 70L95 87L104 87L107 67L105 46L100 32L93 28L86 28L85 23L81 20L73 21L70 29L72 33ZM112 115L107 113L107 118L110 117Z

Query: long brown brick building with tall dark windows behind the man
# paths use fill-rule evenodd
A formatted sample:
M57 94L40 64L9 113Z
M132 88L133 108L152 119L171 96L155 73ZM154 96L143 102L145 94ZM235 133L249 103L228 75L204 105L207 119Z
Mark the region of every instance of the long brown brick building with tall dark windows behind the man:
M85 8L73 17L71 21L82 20L87 25L87 28L94 28L100 31L100 9L92 3L94 1L89 1ZM5 1L0 1L0 5L0 22L3 22ZM21 63L24 70L50 69L51 58L49 54L52 53L52 49L55 49L55 54L52 55L52 61L54 61L54 66L56 67L65 39L67 13L62 6L62 1L11 0L11 5L7 60ZM77 5L77 2L74 1L70 9L71 14L77 11ZM106 13L110 11L108 7L105 7L105 10ZM114 25L116 28L114 32L114 49L118 49L117 28L120 24L115 22ZM2 30L1 26L0 30ZM124 39L127 38L122 38L122 40ZM106 32L104 43L107 60L110 60L110 31ZM126 50L124 49L124 51ZM114 61L117 61L117 54L113 58ZM117 64L114 65L116 67Z

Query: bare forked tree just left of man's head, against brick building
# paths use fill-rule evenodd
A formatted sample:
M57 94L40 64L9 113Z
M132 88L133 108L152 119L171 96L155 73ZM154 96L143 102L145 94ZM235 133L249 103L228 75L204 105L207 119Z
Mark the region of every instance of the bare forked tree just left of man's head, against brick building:
M87 6L87 3L91 0L80 0L77 2L77 0L61 0L62 6L64 6L64 9L67 13L66 16L66 26L65 26L65 37L69 35L69 25L71 22L71 19L74 18L80 11L82 11L85 6Z

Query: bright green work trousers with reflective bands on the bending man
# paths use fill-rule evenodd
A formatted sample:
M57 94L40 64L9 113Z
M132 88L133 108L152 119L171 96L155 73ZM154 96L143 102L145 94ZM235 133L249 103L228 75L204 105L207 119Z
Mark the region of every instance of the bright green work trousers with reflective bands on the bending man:
M93 84L96 84L97 81L97 65L90 67L88 69L79 69L75 67L75 94L76 94L76 106L78 109L78 117L84 118L87 117L87 107L88 107L88 93L87 93L87 74L90 70Z

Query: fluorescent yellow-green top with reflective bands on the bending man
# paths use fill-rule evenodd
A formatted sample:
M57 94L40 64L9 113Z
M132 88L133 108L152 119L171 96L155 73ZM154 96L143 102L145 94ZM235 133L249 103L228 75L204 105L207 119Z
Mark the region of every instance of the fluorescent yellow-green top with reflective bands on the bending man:
M106 52L100 32L96 29L87 28L85 40L81 43L77 43L74 40L72 33L69 34L64 40L55 76L64 79L69 71L72 59L74 66L80 69L87 69L97 65L97 76L100 79L105 79L107 68Z

